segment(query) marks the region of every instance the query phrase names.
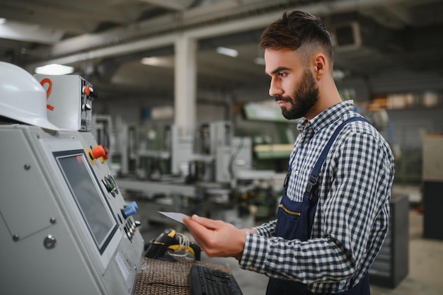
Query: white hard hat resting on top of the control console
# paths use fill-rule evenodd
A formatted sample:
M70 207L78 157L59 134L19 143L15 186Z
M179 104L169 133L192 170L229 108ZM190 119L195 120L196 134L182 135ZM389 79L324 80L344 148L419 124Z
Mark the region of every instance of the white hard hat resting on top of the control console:
M0 115L45 129L59 130L47 120L46 91L24 69L0 62Z

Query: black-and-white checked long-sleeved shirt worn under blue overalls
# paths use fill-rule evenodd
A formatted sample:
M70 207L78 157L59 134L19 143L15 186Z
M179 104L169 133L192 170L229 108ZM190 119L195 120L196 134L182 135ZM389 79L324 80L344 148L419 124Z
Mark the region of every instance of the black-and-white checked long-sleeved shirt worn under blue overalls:
M355 116L354 103L345 101L299 121L289 199L302 201L326 142L341 122ZM349 289L368 272L386 236L393 175L393 155L381 134L367 122L345 125L321 168L311 239L274 237L276 220L257 226L258 235L247 233L240 267L308 284L313 293Z

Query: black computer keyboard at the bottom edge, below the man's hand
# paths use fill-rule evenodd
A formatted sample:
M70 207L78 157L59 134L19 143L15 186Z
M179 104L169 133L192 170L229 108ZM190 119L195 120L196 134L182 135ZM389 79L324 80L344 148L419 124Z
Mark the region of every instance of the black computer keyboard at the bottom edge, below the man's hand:
M201 265L189 272L191 295L243 295L232 274Z

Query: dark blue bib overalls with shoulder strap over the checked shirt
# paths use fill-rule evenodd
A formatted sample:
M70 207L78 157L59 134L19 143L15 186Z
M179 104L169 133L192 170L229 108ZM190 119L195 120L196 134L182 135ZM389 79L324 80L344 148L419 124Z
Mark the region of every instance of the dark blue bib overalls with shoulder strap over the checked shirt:
M289 183L289 177L291 175L292 162L289 165L286 178L283 184L283 197L280 202L280 206L277 212L277 225L275 228L275 236L282 237L286 240L299 239L300 241L307 241L311 237L311 230L313 219L316 214L318 191L317 191L317 179L320 172L323 161L325 160L330 146L332 146L335 137L337 137L340 130L347 122L355 120L361 120L368 122L362 117L351 117L343 122L335 129L332 137L330 137L328 143L323 149L320 157L317 160L316 166L309 175L308 185L306 185L306 191L304 192L303 202L294 202L287 197L287 185ZM294 156L295 158L295 156ZM294 158L292 161L294 161ZM267 284L267 295L311 295L313 294L307 289L306 284L300 282L289 281L284 279L270 278ZM369 295L369 274L366 274L363 279L353 286L351 289L338 293L340 295ZM321 294L328 295L328 294Z

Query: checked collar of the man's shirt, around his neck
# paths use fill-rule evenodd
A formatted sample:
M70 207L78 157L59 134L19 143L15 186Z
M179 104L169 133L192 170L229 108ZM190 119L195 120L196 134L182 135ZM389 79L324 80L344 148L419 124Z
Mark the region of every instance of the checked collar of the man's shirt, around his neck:
M326 110L323 110L320 114L313 117L312 120L306 119L306 117L302 117L297 123L297 129L299 132L303 132L304 129L311 126L314 133L319 132L324 127L331 125L336 120L340 119L345 115L345 113L354 110L354 101L353 100L345 100L341 103L337 103Z

